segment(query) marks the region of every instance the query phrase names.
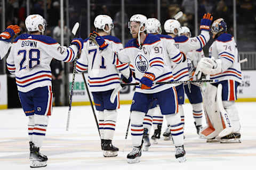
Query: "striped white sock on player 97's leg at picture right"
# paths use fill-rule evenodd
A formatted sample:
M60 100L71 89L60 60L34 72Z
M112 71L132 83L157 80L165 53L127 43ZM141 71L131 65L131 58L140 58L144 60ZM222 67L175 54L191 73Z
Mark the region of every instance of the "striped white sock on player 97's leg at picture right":
M179 114L171 114L165 116L166 121L170 124L171 135L175 146L183 145L183 127L180 122Z

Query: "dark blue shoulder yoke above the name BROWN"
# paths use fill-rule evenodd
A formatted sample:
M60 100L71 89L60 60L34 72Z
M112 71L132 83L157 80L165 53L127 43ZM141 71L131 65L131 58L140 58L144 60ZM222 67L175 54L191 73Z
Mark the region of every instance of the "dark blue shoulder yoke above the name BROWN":
M41 43L47 44L47 45L52 45L52 44L57 44L57 41L53 39L52 37L49 36L44 36L44 35L31 35L31 34L22 34L15 38L13 43L17 43L18 40L26 40L26 39L31 39L31 40L37 40L41 41Z

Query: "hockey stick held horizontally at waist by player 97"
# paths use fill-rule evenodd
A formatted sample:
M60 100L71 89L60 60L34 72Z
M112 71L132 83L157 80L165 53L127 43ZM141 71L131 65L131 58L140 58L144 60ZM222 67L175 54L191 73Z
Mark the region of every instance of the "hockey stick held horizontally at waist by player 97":
M180 84L180 83L202 83L202 82L213 82L213 80L193 80L193 81L169 81L169 82L156 82L155 84ZM110 96L110 102L114 103L118 92L125 86L138 86L140 83L121 83L114 89Z

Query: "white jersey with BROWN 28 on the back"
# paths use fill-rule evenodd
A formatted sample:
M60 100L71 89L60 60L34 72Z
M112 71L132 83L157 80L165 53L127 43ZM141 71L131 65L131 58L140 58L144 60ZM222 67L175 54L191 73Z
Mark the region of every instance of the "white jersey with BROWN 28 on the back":
M7 69L15 74L18 91L28 92L52 86L52 58L73 62L77 52L76 45L60 46L48 36L22 34L13 41L6 60Z

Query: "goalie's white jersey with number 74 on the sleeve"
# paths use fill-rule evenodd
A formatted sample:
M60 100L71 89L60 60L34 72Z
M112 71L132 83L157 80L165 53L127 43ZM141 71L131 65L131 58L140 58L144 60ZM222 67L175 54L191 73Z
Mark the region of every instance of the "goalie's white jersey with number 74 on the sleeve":
M222 62L222 72L210 75L210 79L242 82L241 64L239 63L239 54L234 37L228 33L222 33L209 48L209 57Z

